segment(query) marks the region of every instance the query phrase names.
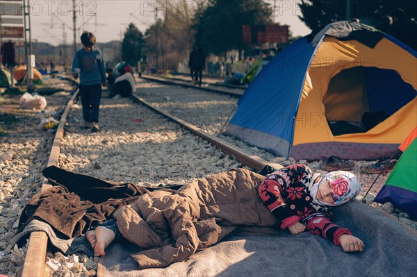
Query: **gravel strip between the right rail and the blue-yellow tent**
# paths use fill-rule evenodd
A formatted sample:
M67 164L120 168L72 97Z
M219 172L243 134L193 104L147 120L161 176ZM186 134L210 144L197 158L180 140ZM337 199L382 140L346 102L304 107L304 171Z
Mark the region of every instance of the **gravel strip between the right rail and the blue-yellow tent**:
M296 161L293 158L286 160L283 157L277 157L272 153L263 149L258 149L250 146L241 140L229 135L222 134L222 128L229 119L231 112L236 107L237 98L232 96L225 96L222 94L202 92L201 90L194 90L192 88L183 88L177 86L167 86L156 83L143 82L140 83L140 88L137 90L138 96L149 101L154 106L167 110L168 112L186 120L190 124L194 124L203 131L211 133L220 137L222 140L230 142L248 153L255 154L270 162L281 163L281 165L290 165L295 162L300 162L309 165L311 169L320 171L325 174L327 171L320 170L322 161L306 162L306 160ZM358 175L359 181L363 184L363 194L368 190L368 187L373 182L375 174L362 174L360 167L371 164L375 161L354 161L355 168L352 170ZM371 192L378 192L379 188L386 181L387 175L384 174L379 177L377 183Z

